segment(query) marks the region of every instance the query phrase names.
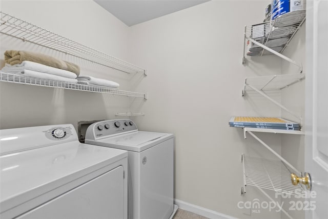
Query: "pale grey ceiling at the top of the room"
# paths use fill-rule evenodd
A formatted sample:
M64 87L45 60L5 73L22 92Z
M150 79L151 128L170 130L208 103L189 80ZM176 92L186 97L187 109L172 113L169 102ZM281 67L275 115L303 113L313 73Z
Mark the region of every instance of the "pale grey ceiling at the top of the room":
M210 0L94 0L128 25L136 25Z

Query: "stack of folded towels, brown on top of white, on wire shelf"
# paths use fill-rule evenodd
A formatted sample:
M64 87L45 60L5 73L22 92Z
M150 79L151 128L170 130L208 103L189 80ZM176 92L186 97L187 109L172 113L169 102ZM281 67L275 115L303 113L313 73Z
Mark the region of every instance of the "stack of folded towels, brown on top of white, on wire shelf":
M3 72L53 81L77 83L80 73L80 68L73 63L34 52L7 50L5 62Z

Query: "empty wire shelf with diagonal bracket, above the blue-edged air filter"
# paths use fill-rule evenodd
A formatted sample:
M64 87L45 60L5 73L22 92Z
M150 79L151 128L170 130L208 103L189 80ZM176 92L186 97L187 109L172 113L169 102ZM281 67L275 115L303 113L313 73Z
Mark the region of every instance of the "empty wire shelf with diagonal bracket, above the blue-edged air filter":
M269 76L258 76L258 77L247 77L245 78L244 86L242 89L242 96L245 96L246 91L255 91L261 94L263 97L269 99L272 103L279 106L281 109L290 113L291 115L298 118L301 122L302 118L300 115L295 114L279 102L275 101L269 95L265 94L264 91L269 90L282 90L295 83L302 81L305 78L305 74L281 74L281 75L269 75Z

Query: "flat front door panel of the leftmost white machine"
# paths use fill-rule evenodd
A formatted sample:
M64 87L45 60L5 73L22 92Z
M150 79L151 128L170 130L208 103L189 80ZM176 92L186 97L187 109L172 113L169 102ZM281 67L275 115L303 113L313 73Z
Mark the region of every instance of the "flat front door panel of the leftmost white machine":
M17 218L125 218L123 172L119 166Z

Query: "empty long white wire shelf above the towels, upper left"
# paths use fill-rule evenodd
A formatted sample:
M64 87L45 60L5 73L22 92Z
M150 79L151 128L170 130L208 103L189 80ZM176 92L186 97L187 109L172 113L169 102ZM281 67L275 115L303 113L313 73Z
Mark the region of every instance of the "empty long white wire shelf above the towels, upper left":
M105 54L88 46L82 45L64 36L60 36L44 28L23 21L4 12L0 12L0 33L22 39L59 52L64 52L99 65L107 66L126 73L144 73L146 70L119 58Z

